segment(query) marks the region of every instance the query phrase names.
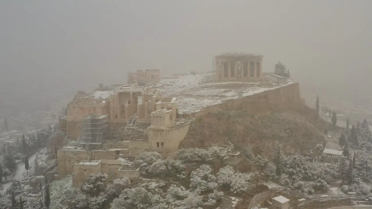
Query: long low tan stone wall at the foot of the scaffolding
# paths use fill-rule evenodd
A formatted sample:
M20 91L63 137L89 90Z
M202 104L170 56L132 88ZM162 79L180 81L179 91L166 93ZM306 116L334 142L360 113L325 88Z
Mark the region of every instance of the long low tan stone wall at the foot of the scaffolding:
M81 160L88 160L93 157L94 160L115 160L115 150L77 150L60 149L57 151L58 178L62 179L74 171L74 164Z

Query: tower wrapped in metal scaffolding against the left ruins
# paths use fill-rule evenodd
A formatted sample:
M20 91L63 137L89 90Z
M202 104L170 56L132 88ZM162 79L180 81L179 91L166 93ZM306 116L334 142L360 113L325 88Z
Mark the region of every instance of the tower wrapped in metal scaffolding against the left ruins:
M93 113L81 123L80 144L87 149L101 148L106 138L107 115Z

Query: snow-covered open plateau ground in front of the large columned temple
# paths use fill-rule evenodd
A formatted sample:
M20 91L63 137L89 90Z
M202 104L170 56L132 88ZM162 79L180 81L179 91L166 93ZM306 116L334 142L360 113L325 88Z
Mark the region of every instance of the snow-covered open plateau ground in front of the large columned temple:
M160 89L164 97L177 97L178 112L185 114L201 111L207 106L217 105L228 99L237 99L239 98L238 92L242 92L244 97L296 83L296 81L288 79L288 83L273 84L272 87L259 87L256 82L223 82L198 85L199 81L211 75L213 74L174 75L162 78L158 83L151 83L148 87Z

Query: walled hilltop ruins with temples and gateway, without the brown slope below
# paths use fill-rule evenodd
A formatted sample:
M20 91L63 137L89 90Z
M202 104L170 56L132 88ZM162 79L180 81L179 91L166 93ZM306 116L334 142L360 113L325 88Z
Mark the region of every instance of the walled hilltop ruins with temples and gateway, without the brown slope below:
M58 177L73 174L74 185L89 173L137 178L136 158L144 151L174 155L198 117L221 110L259 116L303 103L296 81L262 73L261 55L224 54L215 57L215 66L212 73L161 79L160 70L137 71L128 73L128 84L79 92L60 119L64 134L49 144Z

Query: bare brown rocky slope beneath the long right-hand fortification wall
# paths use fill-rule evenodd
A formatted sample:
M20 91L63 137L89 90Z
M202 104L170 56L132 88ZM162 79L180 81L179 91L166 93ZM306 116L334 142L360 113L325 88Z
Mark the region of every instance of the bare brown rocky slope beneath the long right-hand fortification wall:
M208 113L196 118L179 148L208 147L232 142L236 147L248 147L253 154L269 157L276 141L286 152L309 147L325 141L319 129L326 123L316 117L315 110L303 105L296 110L285 110L255 116L245 110Z

